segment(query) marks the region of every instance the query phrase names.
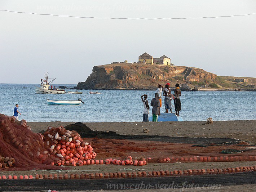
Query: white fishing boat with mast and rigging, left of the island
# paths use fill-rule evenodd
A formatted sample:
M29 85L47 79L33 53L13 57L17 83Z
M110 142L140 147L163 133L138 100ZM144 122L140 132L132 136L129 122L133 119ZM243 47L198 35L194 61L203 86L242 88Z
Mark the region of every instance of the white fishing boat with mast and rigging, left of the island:
M61 94L61 93L66 93L65 90L60 89L60 90L54 90L49 88L50 83L53 82L56 78L48 82L48 72L45 74L45 78L41 79L41 84L40 87L35 87L36 93L53 93L53 94Z

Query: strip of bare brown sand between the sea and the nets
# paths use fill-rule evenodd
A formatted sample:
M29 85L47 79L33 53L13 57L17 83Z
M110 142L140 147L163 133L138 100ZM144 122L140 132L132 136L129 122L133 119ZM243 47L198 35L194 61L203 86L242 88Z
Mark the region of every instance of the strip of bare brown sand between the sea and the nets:
M39 133L49 126L67 126L75 122L28 122L31 130ZM256 120L184 122L84 122L92 130L116 131L123 135L168 135L175 137L236 138L256 143ZM143 133L147 128L149 133Z

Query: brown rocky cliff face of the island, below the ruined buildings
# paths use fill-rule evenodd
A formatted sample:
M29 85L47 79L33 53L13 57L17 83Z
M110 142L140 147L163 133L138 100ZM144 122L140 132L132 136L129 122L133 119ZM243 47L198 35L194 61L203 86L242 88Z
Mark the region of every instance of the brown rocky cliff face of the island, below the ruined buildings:
M114 63L94 66L92 74L85 82L79 82L77 89L155 89L158 83L175 84L176 81L171 80L176 75L183 76L184 80L216 77L215 74L198 68L188 71L188 67L183 66Z

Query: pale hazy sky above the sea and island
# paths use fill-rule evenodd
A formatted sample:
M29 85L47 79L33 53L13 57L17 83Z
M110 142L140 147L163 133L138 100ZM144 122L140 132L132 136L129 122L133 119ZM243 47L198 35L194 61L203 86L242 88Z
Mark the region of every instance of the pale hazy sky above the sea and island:
M184 18L256 13L255 0L0 0L0 9L90 17ZM0 83L85 81L93 66L144 52L175 65L256 77L256 15L110 20L0 11Z

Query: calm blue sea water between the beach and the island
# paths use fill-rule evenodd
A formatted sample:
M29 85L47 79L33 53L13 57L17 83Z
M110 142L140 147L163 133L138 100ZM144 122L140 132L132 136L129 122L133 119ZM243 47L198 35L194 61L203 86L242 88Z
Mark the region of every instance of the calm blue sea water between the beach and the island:
M36 94L35 86L39 85L0 84L0 113L12 116L13 108L18 103L19 111L22 113L19 115L20 120L42 122L142 121L141 95L147 94L150 102L155 93L149 90L98 90L102 94L89 94L90 90L81 90L83 94ZM72 91L72 89L65 90ZM84 104L79 106L48 105L47 98L56 100L81 98ZM161 112L163 113L165 112L164 99L162 102ZM181 105L180 116L185 121L205 121L208 117L212 117L215 121L256 119L256 92L182 91Z

